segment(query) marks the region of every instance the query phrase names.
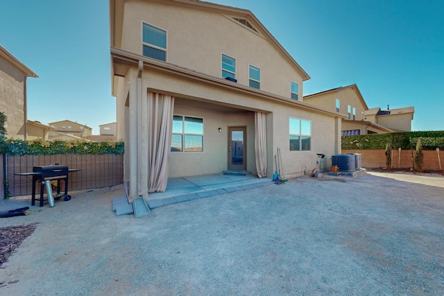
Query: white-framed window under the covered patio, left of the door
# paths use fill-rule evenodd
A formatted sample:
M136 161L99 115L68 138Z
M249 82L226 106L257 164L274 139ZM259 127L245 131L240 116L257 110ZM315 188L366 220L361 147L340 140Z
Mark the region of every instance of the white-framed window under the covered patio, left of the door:
M203 152L203 119L173 116L171 152Z

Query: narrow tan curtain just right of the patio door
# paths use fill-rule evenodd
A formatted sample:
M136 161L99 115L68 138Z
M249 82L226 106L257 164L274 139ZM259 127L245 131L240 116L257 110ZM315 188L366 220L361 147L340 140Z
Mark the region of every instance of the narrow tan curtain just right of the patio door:
M259 178L266 177L266 114L255 112L255 156Z

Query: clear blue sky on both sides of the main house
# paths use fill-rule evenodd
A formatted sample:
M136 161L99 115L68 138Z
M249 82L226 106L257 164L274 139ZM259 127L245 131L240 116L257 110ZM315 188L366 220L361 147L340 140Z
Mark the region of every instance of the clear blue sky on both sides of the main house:
M251 10L311 76L304 95L356 83L368 107L415 107L412 130L444 130L444 1L212 0ZM108 0L3 1L0 44L28 78L28 119L116 120Z

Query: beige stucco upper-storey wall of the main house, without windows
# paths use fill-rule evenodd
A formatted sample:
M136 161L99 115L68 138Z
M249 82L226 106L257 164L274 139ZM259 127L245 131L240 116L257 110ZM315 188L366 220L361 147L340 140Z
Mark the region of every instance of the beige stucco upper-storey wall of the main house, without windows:
M302 101L302 76L296 68L264 39L264 34L251 31L231 16L130 0L125 6L123 50L142 54L143 22L167 31L167 62L171 64L221 78L224 53L237 60L239 84L248 86L248 65L252 64L261 69L262 90L290 98L294 81L299 84Z

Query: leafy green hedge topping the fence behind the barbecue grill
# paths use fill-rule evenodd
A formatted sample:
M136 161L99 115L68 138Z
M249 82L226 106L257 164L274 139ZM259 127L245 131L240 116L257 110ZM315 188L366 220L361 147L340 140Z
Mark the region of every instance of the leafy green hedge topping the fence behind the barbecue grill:
M56 155L56 154L116 154L122 155L125 150L123 141L92 142L87 140L44 141L44 139L19 140L6 139L0 153L15 155Z

